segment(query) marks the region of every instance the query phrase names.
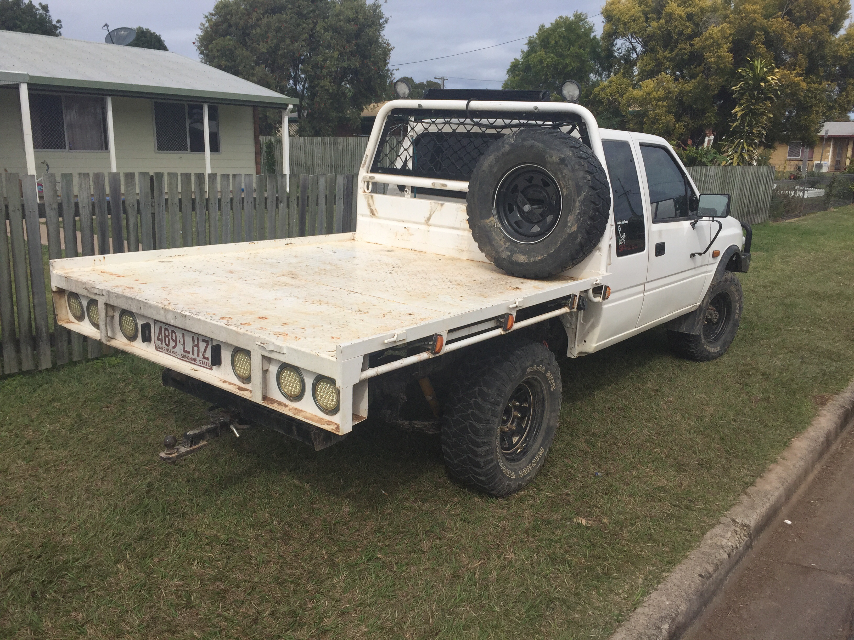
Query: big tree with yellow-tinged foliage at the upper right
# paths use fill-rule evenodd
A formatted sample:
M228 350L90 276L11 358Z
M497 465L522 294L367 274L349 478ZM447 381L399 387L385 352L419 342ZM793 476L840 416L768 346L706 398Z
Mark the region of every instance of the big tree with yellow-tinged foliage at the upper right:
M848 0L607 0L603 46L611 77L594 90L597 113L687 143L724 131L736 107L736 69L773 64L781 97L767 140L814 143L823 119L854 108L854 29L840 33Z

